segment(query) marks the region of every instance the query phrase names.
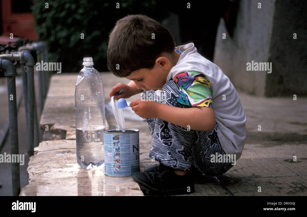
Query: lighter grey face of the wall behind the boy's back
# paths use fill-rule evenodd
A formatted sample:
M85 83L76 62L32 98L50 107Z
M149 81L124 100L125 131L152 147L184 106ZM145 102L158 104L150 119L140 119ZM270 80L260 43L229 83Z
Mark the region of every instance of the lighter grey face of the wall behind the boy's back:
M247 71L246 63L268 62L275 0L241 0L234 36L231 38L221 18L216 35L213 62L221 68L236 89L263 96L266 71ZM226 33L226 39L222 34ZM274 71L273 71L274 72ZM272 72L272 73L273 73Z

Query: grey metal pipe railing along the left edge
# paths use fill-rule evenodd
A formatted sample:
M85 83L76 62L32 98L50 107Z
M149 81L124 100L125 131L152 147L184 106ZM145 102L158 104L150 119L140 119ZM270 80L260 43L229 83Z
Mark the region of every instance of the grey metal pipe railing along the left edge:
M21 46L23 45L23 46ZM5 131L0 140L0 151L5 144L8 131L10 132L10 148L11 154L19 154L18 146L18 127L17 127L17 112L21 102L21 97L24 97L25 103L25 119L27 129L27 143L28 154L34 154L35 147L43 138L43 130L39 129L37 121L36 101L35 101L35 88L34 88L34 66L36 65L31 51L35 51L37 55L37 62L41 60L48 63L47 47L43 42L31 42L29 44L15 44L8 46L0 44L3 48L0 49L0 73L4 73L7 77L8 101L9 101L9 124L5 127ZM17 50L17 51L14 51ZM11 61L15 61L12 63ZM21 92L23 94L16 98L16 80L18 75L15 65L18 63L21 66L22 85ZM43 110L45 97L49 87L49 71L38 72L39 83L39 108L40 114ZM13 100L12 100L13 99ZM16 100L17 99L17 100ZM40 118L39 118L40 120ZM41 139L40 139L41 138ZM12 187L13 196L18 196L20 193L20 170L19 163L12 163Z

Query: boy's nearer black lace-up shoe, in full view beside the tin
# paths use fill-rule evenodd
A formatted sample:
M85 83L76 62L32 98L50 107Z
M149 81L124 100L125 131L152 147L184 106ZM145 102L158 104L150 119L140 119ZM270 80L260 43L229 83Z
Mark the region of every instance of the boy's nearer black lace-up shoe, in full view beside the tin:
M149 190L149 194L175 195L190 194L195 191L194 177L191 172L183 176L174 173L173 168L162 163L154 172L134 173L134 181Z

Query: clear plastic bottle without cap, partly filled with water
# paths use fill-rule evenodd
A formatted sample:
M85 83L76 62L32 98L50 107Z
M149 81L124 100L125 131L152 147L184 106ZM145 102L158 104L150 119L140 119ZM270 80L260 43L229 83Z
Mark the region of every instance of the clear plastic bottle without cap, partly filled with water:
M93 68L91 57L83 58L75 89L76 151L83 169L104 163L103 130L106 126L102 77Z

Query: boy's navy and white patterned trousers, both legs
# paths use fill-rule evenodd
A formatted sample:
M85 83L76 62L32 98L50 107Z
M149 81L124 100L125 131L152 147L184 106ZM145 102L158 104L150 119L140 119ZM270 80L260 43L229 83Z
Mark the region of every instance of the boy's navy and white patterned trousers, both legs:
M157 96L153 90L143 92L147 96ZM180 96L179 85L168 81L160 96L154 101L179 108L191 108L177 102ZM178 117L181 118L181 117ZM220 175L229 170L231 162L211 162L211 155L226 154L217 136L217 124L212 131L187 130L158 118L146 119L152 136L149 157L167 166L189 171L192 166L206 175Z

